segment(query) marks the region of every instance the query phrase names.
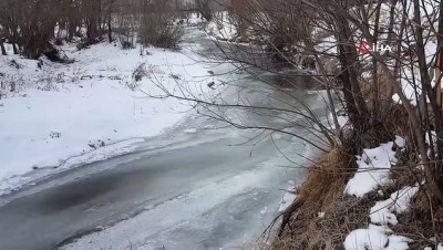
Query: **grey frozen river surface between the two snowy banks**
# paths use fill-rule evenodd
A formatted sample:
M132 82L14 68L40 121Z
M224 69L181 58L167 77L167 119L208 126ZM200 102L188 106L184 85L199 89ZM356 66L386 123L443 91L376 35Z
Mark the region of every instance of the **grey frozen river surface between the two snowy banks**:
M305 79L300 79L305 81ZM226 87L249 104L297 107L303 100L322 117L315 92L276 91L253 77ZM302 108L300 106L300 108ZM229 119L288 128L288 114L226 110ZM254 244L278 213L284 189L302 178L297 164L316 154L297 136L243 131L189 112L166 133L134 153L54 175L3 197L0 249L239 249Z

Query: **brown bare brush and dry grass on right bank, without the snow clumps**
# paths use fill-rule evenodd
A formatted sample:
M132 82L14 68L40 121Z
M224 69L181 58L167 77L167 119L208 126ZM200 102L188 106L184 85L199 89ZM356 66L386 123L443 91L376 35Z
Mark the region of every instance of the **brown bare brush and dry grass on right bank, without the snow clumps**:
M413 218L412 215L416 213L416 219L423 219L423 225L430 226L430 221L439 218L443 205L440 86L443 75L443 19L440 18L443 3L426 0L257 0L248 8L248 11L235 14L249 23L248 29L261 39L260 42L267 46L267 56L284 61L290 69L302 65L300 58L313 58L315 75L328 95L340 96L340 102L330 97L326 101L332 114L331 124L336 125L336 129L330 131L333 149L326 157L329 159L322 160L328 162L323 165L329 167L321 171L316 171L318 166L311 167L299 198L284 213L285 230L281 233L286 237L281 240L285 242L278 242L275 248L340 249L347 233L367 226L369 220L365 216L374 204L371 198L377 194L363 199L346 197L342 195L344 180L356 169L353 155L361 154L362 148L390 142L394 135L403 136L408 144L406 160L400 166L408 171L393 170L394 188L422 184L416 200L422 200L421 207L432 215L420 213L415 200L404 218ZM326 38L329 45L324 44ZM358 49L362 41L389 44L392 50L387 53L372 50L361 54ZM332 60L338 62L338 71L327 71L324 62ZM245 60L241 63L247 64ZM394 94L395 101L392 98ZM338 125L337 106L344 107L351 129ZM333 168L337 150L343 152L349 159L341 163L339 169L344 170L339 174ZM423 197L427 199L426 206ZM326 216L318 218L319 211ZM408 219L402 225L413 227ZM420 228L424 230L424 227ZM442 240L441 227L434 225L429 232L421 237L429 239L433 232L439 235L436 240ZM419 240L419 237L411 238Z

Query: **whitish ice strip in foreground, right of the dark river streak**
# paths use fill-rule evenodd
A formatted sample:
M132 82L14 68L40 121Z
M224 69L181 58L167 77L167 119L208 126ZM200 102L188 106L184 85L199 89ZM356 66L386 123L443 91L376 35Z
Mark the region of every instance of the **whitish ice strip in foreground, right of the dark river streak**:
M275 163L275 160L269 160L257 169L244 171L223 181L214 181L173 200L147 207L146 211L136 217L123 220L103 231L82 237L62 249L158 249L157 247L162 249L162 246L165 246L165 249L199 249L196 248L196 244L206 239L208 233L214 232L217 238L222 238L224 233L235 230L235 228L229 228L223 233L214 231L219 228L217 225L220 223L220 220L212 218L213 211L222 212L217 208L224 205L236 209L236 206L241 207L247 202L255 202L250 198L237 205L231 201L235 200L236 194L259 196L259 194L254 195L251 189L262 189L264 184L271 181ZM262 192L264 196L266 194L266 191ZM248 201L246 202L246 200ZM253 229L258 229L259 236L262 232L259 228L262 223L260 218L268 212L277 211L277 209L278 204L275 204L274 207L257 207L257 211L254 211L256 218L254 218L253 225L249 225L248 221L243 222L243 226L248 228L248 236L231 237L229 239L231 242L227 243L239 246L245 242L254 242L257 238L254 236ZM225 209L225 212L229 213L228 209ZM228 219L228 217L225 218L225 220ZM188 232L190 235L186 239L181 238L183 233Z

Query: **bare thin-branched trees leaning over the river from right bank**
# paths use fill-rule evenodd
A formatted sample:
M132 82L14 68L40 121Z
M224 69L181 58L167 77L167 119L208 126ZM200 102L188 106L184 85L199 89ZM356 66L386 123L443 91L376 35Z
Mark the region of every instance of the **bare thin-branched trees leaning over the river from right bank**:
M256 73L253 69L269 70L264 65L264 58L282 62L274 72L299 69L305 62L313 60L315 72L311 75L328 92L326 102L334 117L334 127L338 126L337 105L342 105L352 129L342 133L339 128L316 126L329 138L329 145L339 143L351 155L392 139L396 128L391 112L401 110L406 113L410 123L402 128L404 136L409 138L411 149L421 155L419 164L424 167L426 190L442 205L443 113L440 93L442 74L439 73L442 62L439 58L443 25L437 24L442 22L443 3L398 0L391 1L389 8L384 8L385 3L381 1L367 3L363 0L248 1L245 6L230 8L230 11L236 19L247 23L247 29L254 32L255 42L261 46L217 45L225 59L253 73ZM361 54L361 42L374 44L373 50ZM436 44L436 51L429 51L433 48L431 43ZM377 44L389 44L393 50L383 53L375 50ZM267 49L262 50L264 46ZM328 66L331 62L333 66ZM297 87L296 83L288 82ZM412 87L414 96L405 93L403 87ZM333 93L342 103L333 101ZM401 104L392 100L392 94L396 94ZM174 93L166 92L166 95L179 97ZM411 97L419 105L411 102ZM198 97L192 100L197 104L212 105ZM235 106L257 108L256 105ZM426 137L433 139L426 142Z

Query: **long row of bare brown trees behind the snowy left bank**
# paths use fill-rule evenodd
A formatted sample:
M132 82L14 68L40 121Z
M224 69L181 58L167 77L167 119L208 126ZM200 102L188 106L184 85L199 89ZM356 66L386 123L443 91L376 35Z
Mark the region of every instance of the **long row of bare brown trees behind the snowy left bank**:
M13 53L38 59L53 51L51 40L106 35L112 41L113 32L127 35L130 28L142 25L145 32L141 33L146 39L164 37L165 32L174 37L178 31L167 22L175 15L174 10L186 8L190 8L189 2L182 0L0 0L1 52L7 53L4 42L8 42ZM156 34L146 34L153 32L150 29ZM165 41L158 43L164 45Z

